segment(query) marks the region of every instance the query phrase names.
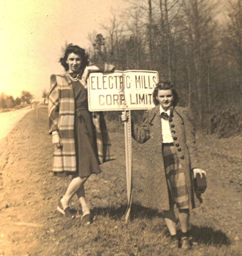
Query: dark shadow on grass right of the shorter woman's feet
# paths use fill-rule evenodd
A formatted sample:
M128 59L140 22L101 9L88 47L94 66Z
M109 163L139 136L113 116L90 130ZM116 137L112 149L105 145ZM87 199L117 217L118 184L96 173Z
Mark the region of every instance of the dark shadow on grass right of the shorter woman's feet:
M194 242L207 245L230 245L229 238L221 230L191 225L190 234Z

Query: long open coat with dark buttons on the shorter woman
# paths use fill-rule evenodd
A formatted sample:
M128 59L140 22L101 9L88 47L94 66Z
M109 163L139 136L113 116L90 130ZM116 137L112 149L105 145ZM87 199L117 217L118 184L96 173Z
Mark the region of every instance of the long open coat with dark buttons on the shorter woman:
M174 140L181 168L185 173L186 185L189 192L190 208L200 205L199 195L195 195L192 182L192 168L199 167L195 144L195 130L192 114L188 108L174 107L169 118L170 130ZM143 155L148 161L146 170L140 168L133 176L134 200L145 207L169 209L167 181L162 154L162 127L160 106L145 112L141 126L133 127L133 137L139 143L145 143ZM139 160L139 166L142 164ZM135 173L135 172L134 172Z

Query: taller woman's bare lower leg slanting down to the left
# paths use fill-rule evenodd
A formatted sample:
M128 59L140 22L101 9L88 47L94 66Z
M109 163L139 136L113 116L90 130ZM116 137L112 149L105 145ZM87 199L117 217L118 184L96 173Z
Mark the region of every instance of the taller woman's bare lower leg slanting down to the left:
M61 199L64 209L68 207L69 201L77 193L77 191L81 188L81 186L84 185L88 177L76 177L71 181L71 183L68 186L66 194Z

